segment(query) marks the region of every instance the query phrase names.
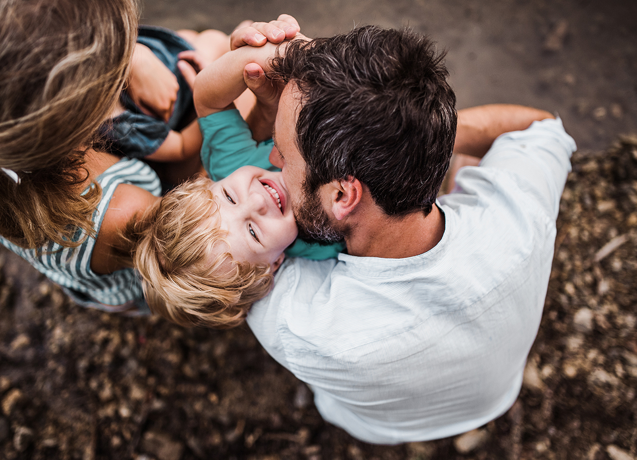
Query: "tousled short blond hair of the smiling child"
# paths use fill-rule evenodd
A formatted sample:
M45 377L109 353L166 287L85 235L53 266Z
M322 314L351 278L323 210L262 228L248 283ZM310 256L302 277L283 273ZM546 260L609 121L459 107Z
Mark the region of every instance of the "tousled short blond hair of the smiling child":
M153 313L182 326L238 326L268 294L268 264L234 261L210 179L185 182L132 222L133 265Z

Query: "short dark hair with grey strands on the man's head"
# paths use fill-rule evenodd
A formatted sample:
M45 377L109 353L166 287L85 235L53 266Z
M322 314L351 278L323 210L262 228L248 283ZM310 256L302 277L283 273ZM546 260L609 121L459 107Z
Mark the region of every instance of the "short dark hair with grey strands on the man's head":
M354 176L387 215L431 212L457 122L443 57L422 35L373 25L292 41L273 75L301 90L306 193Z

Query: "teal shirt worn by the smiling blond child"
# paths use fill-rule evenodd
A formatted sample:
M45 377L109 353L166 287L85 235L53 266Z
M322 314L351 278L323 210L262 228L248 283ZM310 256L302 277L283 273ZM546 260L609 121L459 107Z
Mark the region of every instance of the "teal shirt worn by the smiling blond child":
M252 139L248 124L238 110L224 110L199 119L203 136L201 162L212 180L221 180L241 166L259 166L269 171L280 171L269 162L274 147L271 139L259 142ZM336 257L345 243L329 246L295 240L285 250L288 257L304 257L321 261Z

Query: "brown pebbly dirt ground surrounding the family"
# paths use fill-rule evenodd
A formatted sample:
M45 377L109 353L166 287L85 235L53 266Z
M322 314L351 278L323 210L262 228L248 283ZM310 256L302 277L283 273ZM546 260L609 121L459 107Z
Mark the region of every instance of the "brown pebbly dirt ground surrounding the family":
M154 0L149 24L230 32L295 15L309 36L410 25L448 50L459 108L557 111L578 143L524 386L462 436L378 446L324 422L246 327L83 310L0 250L0 458L637 459L637 3Z

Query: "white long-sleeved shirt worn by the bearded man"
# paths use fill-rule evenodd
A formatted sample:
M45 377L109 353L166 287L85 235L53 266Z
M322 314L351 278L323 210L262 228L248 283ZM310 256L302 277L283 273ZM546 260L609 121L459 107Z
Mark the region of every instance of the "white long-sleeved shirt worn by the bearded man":
M248 324L311 385L324 419L356 438L424 441L485 424L520 391L575 148L560 120L503 134L439 199L436 247L290 259Z

